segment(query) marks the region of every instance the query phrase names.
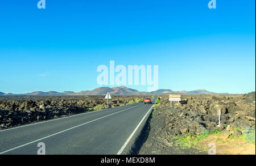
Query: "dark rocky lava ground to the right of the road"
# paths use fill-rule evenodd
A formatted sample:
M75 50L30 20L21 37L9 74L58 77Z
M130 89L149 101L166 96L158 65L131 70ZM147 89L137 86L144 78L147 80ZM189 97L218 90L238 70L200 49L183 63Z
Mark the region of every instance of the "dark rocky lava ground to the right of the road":
M170 101L162 96L150 120L149 132L139 154L204 154L203 151L183 150L171 138L184 133L201 134L218 125L219 130L230 127L255 129L255 92L246 95L181 95L181 101Z

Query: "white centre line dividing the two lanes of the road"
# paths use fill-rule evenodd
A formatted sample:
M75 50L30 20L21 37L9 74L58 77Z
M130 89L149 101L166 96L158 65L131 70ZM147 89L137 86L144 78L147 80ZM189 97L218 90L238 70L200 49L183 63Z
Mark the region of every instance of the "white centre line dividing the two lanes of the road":
M139 105L142 105L142 104L139 104ZM138 107L139 105L136 105L136 106L134 106L134 107ZM134 107L131 107L131 108L134 108ZM40 139L37 139L37 140L32 141L32 142L28 142L28 143L26 143L26 144L22 144L22 145L20 145L20 146L17 146L17 147L11 148L11 149L6 150L6 151L3 151L3 152L0 152L0 155L1 155L1 154L4 154L4 153L6 153L6 152L9 152L9 151L15 150L16 148L20 148L20 147L26 146L26 145L28 145L28 144L31 144L31 143L35 143L35 142L41 141L42 139L46 139L46 138L52 137L53 135L57 135L57 134L63 133L63 132L65 132L65 131L68 131L68 130L71 130L71 129L75 129L76 127L79 127L79 126L82 126L82 125L89 124L90 122L97 121L97 120L100 120L100 119L105 118L105 117L108 117L108 116L112 116L113 114L116 114L116 113L119 113L119 112L123 112L123 111L125 111L125 110L127 110L127 109L131 109L131 108L126 108L126 109L120 110L120 111L118 111L118 112L115 112L115 113L109 114L109 115L107 115L107 116L100 117L100 118L97 118L97 119L95 119L95 120L92 120L92 121L86 122L86 123L84 123L84 124L77 125L77 126L74 126L74 127L69 128L69 129L66 129L66 130L60 131L60 132L58 132L58 133L48 135L47 137L40 138Z

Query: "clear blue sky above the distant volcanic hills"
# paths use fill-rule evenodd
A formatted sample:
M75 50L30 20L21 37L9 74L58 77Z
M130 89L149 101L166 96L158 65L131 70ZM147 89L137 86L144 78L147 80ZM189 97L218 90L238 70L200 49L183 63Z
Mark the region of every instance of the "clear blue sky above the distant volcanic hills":
M255 91L254 0L38 1L0 2L1 92L93 90L110 60L158 65L159 88Z

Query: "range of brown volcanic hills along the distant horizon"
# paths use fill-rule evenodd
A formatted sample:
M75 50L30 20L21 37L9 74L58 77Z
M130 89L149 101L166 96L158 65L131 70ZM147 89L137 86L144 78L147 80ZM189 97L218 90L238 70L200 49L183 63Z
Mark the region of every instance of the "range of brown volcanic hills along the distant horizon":
M42 91L35 91L31 93L24 93L24 94L13 94L13 93L3 93L0 92L0 95L25 95L25 96L81 96L81 95L106 95L106 93L110 93L111 95L151 95L151 94L214 94L214 92L209 92L207 90L195 90L195 91L172 91L169 89L159 89L152 92L141 92L134 90L128 87L99 87L92 91L80 91L80 92L72 92L72 91L64 91L64 92L56 92L56 91L49 91L49 92L42 92Z

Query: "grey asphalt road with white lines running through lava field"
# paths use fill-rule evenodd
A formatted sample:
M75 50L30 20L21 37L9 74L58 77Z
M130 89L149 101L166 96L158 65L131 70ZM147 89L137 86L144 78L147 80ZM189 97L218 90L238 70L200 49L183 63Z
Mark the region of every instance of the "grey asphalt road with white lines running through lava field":
M0 131L0 154L129 154L153 104L131 104ZM42 152L42 151L41 151Z

